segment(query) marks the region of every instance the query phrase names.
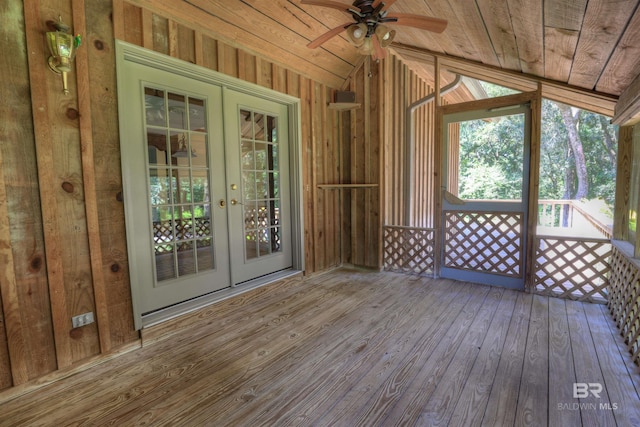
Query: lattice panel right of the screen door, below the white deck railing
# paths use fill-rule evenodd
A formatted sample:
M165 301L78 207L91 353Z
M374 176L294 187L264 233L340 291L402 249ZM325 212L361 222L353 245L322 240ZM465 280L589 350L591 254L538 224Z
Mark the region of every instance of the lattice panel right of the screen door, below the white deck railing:
M611 243L606 239L537 237L537 294L576 301L608 300Z

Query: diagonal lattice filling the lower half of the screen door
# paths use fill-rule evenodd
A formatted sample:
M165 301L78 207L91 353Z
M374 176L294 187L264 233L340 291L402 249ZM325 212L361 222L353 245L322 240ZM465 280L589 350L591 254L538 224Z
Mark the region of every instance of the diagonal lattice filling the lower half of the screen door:
M445 267L522 276L521 213L446 211L444 219Z

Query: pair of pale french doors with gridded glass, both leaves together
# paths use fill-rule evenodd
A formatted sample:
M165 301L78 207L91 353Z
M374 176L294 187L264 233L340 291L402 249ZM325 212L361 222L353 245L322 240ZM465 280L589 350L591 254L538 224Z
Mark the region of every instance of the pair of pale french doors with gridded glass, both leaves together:
M137 327L293 265L287 105L193 77L118 67Z

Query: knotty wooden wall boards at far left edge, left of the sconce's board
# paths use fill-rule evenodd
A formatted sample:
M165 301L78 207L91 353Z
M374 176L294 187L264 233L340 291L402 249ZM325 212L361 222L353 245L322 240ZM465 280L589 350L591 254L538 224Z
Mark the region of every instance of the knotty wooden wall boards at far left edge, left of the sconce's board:
M0 103L0 302L4 305L0 389L46 374L56 366L25 25L22 1L0 4L0 49L14 51L0 57L6 72L0 85L0 99L4 100Z

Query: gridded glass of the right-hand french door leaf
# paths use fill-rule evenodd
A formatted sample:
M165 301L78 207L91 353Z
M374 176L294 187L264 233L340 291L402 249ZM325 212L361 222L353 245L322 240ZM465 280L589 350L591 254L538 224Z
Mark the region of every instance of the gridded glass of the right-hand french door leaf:
M280 252L277 117L241 109L242 191L247 260ZM249 123L249 124L247 124Z

